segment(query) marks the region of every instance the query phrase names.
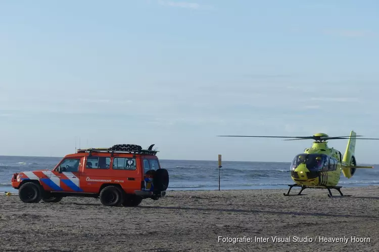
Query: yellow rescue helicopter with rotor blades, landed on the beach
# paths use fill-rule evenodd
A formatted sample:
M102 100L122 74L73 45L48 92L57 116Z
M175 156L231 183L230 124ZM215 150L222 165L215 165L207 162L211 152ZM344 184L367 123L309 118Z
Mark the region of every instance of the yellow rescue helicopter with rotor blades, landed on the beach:
M358 138L354 131L350 136L329 137L323 133L317 133L311 137L278 137L278 136L218 136L218 137L249 137L249 138L289 138L285 141L313 139L311 148L304 150L304 153L295 156L291 163L291 178L295 184L289 184L290 188L285 196L290 195L292 187L299 186L301 195L305 188L326 188L329 192L328 197L333 195L330 189L335 189L340 193L340 197L344 195L341 192L342 186L337 186L340 181L341 171L345 177L351 178L357 168L374 168L373 166L357 166L355 159L355 142L357 139L379 140L379 138ZM332 139L348 139L345 154L340 151L329 148L327 140Z

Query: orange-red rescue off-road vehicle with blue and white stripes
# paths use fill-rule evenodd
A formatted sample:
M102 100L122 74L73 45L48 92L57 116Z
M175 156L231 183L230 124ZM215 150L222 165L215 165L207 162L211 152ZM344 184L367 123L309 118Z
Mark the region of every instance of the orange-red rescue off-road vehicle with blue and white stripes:
M143 199L165 196L169 175L157 151L139 145L79 149L53 170L14 173L12 186L25 203L59 202L63 197L100 198L105 206L138 206Z

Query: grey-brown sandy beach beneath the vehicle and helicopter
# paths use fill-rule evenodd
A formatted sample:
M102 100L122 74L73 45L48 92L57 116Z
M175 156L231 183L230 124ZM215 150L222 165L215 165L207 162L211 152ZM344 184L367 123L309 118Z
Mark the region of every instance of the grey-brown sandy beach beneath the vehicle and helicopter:
M342 188L351 197L333 199L326 190L285 197L287 190L168 191L135 208L105 207L92 198L24 204L18 196L0 196L0 250L379 251L379 187ZM218 236L253 242L219 242ZM349 240L321 242L320 236ZM352 242L352 236L370 241Z

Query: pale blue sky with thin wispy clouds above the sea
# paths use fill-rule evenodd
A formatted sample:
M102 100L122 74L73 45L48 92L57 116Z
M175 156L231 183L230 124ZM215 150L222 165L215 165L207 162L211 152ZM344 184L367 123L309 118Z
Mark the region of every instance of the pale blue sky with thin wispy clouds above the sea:
M379 138L377 1L1 1L0 155L154 143L162 159L288 161ZM87 145L88 142L88 145ZM345 151L346 140L329 142ZM379 163L379 141L356 145Z

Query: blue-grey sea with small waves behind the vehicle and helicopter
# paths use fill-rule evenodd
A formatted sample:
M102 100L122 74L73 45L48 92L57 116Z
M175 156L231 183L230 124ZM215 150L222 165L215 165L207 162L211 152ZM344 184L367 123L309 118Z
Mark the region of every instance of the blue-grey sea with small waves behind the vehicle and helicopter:
M17 192L11 186L13 173L37 169L53 169L62 157L0 156L0 192ZM221 190L276 189L287 190L293 184L290 162L238 162L223 161L218 168L215 161L160 160L162 168L169 172L170 190L218 190L219 174ZM358 169L350 179L341 174L340 184L346 187L379 185L379 165L374 169Z

